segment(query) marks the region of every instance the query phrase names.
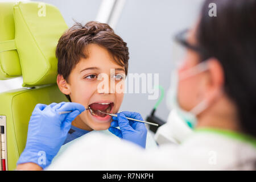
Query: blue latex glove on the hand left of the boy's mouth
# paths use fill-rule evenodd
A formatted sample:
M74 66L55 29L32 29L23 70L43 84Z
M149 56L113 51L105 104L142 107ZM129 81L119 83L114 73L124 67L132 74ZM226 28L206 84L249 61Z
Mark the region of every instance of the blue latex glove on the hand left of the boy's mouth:
M85 107L75 102L38 104L28 123L27 143L17 164L36 163L45 168L59 152L67 138L71 122ZM59 114L60 111L72 113Z

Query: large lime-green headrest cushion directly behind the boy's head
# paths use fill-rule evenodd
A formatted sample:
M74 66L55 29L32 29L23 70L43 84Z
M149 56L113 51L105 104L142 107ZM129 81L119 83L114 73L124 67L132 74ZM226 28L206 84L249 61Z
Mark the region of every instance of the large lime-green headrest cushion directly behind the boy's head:
M0 6L2 4L5 3ZM18 2L13 6L13 18L15 38L2 45L7 49L5 52L10 52L10 49L18 51L23 76L22 86L55 83L55 50L60 36L68 28L60 11L46 3Z

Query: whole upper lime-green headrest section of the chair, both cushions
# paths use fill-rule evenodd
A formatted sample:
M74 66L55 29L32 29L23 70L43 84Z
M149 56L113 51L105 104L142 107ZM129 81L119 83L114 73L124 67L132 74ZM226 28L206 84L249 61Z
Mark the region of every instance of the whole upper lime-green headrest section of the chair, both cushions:
M46 3L39 5L38 2L0 3L0 23L7 24L0 26L0 53L4 56L0 57L0 78L20 75L21 66L22 86L56 82L55 49L68 26L55 6ZM45 14L40 14L42 9Z

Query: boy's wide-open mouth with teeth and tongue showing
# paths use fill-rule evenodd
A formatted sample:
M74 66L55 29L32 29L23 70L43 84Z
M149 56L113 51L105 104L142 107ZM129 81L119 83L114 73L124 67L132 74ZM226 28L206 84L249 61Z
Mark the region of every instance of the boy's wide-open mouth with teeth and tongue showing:
M104 113L110 113L110 111L112 111L113 106L114 106L113 102L97 102L97 103L90 104L88 108L89 108L90 114L104 118L107 115ZM104 113L101 113L98 110Z

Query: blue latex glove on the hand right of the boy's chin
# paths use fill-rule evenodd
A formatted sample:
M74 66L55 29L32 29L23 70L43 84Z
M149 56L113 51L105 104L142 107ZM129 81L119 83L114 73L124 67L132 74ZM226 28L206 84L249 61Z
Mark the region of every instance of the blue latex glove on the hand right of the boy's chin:
M129 140L139 146L146 147L147 129L144 123L131 121L126 117L142 120L141 114L130 111L123 111L113 117L113 122L110 124L109 131L119 138ZM119 126L120 130L115 128Z

